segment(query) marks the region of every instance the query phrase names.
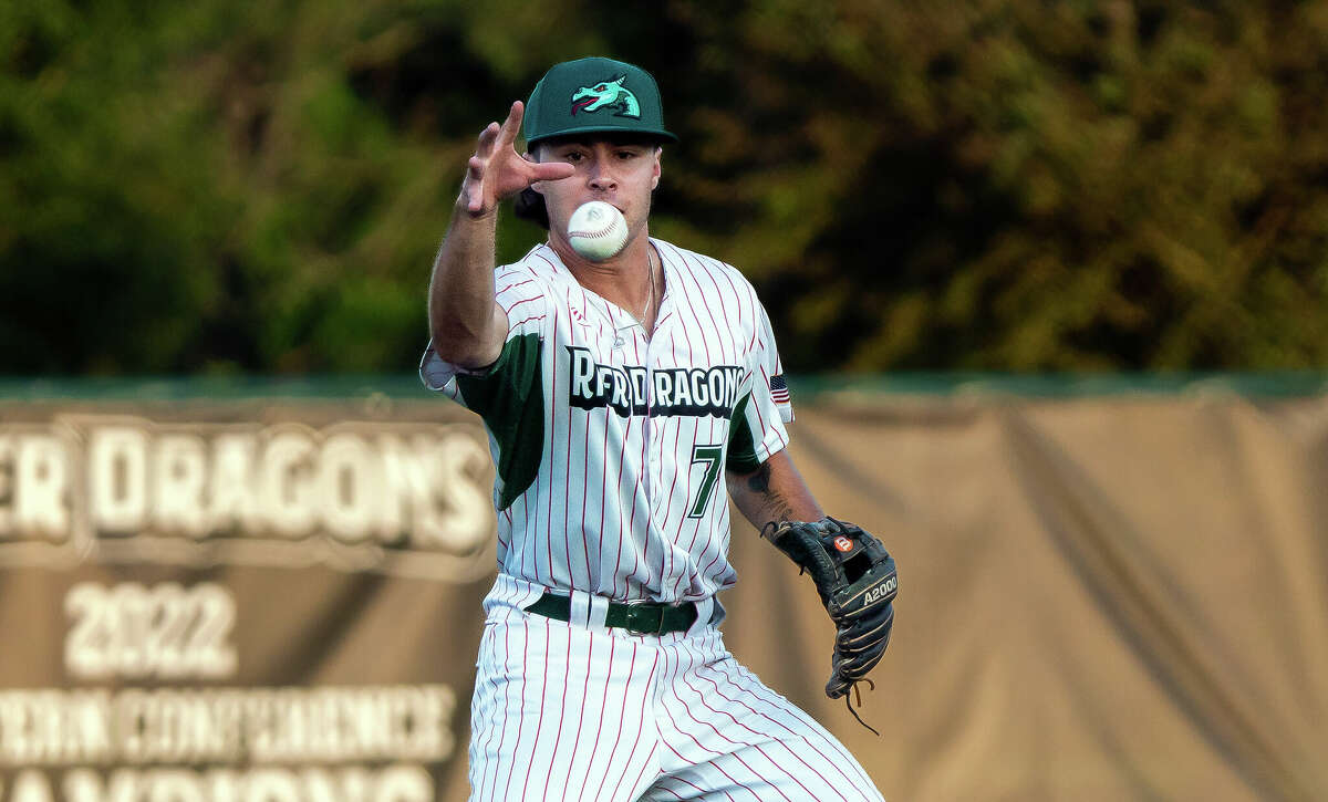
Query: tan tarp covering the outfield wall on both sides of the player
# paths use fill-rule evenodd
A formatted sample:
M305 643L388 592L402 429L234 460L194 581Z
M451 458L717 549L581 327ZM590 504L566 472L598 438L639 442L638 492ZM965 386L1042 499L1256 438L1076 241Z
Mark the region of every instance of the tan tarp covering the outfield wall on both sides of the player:
M139 416L129 428L153 442L197 429L207 449L205 424L263 424L270 442L291 421L316 443L336 421L365 442L392 426L478 442L437 402L0 406L0 802L463 799L491 552L458 554L471 540L446 526L351 546L259 524L97 530L80 494L110 413ZM1328 798L1328 400L884 397L798 414L793 453L823 506L899 562L894 639L862 708L882 737L821 694L830 632L810 583L745 526L726 639L888 799ZM66 540L20 531L4 440L57 428ZM130 493L130 462L104 495ZM459 531L466 493L425 495ZM135 663L143 608L125 586L170 583L234 600L232 669ZM161 629L154 615L139 629ZM347 732L320 741L309 721ZM376 724L393 737L374 740ZM242 734L207 742L201 725Z

